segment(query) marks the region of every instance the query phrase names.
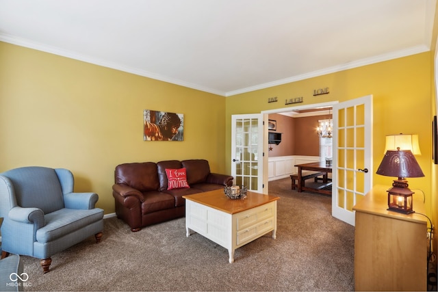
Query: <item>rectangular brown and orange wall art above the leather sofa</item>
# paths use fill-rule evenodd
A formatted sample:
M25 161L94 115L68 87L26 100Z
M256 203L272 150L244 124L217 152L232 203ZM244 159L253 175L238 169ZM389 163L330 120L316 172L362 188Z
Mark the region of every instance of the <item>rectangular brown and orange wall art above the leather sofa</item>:
M184 115L167 111L143 111L144 141L183 141Z

